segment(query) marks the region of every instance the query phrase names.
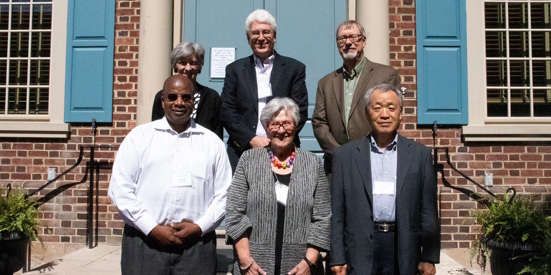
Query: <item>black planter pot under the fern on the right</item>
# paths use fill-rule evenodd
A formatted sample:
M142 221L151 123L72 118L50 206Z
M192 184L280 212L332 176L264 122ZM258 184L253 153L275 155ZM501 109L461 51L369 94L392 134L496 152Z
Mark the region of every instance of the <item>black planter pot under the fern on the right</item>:
M490 270L492 275L515 275L530 263L527 254L542 252L541 244L515 243L513 241L482 239L480 242L491 249ZM513 258L517 257L514 260Z

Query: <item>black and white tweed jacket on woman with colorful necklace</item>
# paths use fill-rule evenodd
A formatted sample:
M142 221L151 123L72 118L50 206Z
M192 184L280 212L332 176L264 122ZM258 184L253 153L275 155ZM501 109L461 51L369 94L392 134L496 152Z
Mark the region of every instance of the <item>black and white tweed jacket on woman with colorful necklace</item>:
M266 147L245 151L226 200L226 244L234 244L252 228L251 256L268 274L274 273L277 230L271 165ZM296 147L285 207L280 274L287 274L299 264L308 244L329 250L330 220L331 199L321 161L314 153ZM234 259L234 274L240 275L239 258Z

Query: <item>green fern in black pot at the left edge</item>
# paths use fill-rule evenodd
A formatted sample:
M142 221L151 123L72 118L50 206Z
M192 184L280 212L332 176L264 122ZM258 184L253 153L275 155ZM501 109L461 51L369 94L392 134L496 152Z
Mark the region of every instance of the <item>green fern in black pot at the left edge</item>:
M23 189L7 189L0 194L0 274L13 274L25 263L29 240L40 240L39 210Z

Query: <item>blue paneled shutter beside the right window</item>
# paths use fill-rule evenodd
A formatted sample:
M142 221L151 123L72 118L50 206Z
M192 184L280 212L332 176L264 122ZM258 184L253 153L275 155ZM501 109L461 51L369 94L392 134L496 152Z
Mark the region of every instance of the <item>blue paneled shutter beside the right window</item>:
M468 124L465 0L415 3L417 123Z

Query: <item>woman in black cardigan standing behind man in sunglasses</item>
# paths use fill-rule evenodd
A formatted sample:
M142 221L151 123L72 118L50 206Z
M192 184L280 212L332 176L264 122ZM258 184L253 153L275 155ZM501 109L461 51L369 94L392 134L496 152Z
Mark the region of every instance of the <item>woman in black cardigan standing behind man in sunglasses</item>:
M217 134L220 139L224 138L224 130L220 123L220 95L217 91L197 83L197 75L201 74L205 59L205 49L203 46L192 43L182 42L172 50L170 54L170 64L174 73L187 76L196 88L195 102L193 102L193 112L191 118L199 125L203 126ZM161 119L165 116L165 111L161 103L163 90L155 95L153 101L153 111L151 120Z

